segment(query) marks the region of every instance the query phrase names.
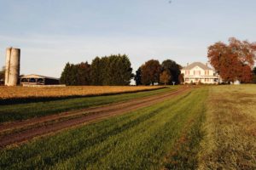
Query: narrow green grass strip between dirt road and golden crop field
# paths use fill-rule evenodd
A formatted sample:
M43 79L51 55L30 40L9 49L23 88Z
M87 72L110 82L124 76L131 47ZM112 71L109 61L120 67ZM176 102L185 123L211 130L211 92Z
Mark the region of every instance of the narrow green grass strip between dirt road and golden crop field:
M63 111L73 111L99 105L109 105L116 102L138 99L151 95L162 94L176 90L177 86L131 94L115 94L109 96L84 97L75 99L59 99L45 102L13 104L0 106L0 122L25 120L37 116L47 116Z

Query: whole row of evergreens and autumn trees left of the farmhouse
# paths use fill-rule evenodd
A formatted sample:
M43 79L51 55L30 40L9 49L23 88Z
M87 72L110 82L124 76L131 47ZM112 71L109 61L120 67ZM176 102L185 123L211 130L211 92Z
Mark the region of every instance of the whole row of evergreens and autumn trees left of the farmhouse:
M160 64L158 60L150 59L132 73L131 62L127 55L117 54L96 57L91 64L67 63L61 73L60 82L68 86L125 86L134 78L136 85L178 84L183 82L180 75L181 66L175 61L166 59Z

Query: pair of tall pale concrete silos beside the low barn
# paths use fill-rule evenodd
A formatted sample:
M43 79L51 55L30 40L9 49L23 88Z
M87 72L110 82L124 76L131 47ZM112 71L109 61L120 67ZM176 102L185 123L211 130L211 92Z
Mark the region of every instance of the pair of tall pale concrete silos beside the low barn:
M16 86L20 77L20 49L6 48L5 85Z

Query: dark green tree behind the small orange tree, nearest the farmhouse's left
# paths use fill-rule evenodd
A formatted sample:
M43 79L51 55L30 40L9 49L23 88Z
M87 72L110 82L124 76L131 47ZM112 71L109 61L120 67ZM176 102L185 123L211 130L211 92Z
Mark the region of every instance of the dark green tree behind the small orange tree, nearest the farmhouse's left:
M181 65L177 65L175 61L172 59L166 59L162 62L162 71L167 71L168 74L171 76L171 79L168 84L172 84L172 82L179 83L179 75L180 75L180 69Z

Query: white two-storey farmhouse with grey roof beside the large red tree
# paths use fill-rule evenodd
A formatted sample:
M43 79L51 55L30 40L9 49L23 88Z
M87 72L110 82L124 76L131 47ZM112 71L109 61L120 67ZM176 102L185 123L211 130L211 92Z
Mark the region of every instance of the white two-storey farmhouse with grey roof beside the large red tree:
M201 62L194 62L191 65L183 67L181 73L184 76L184 83L205 83L212 84L218 83L219 77L208 65L204 65Z

